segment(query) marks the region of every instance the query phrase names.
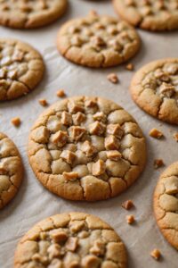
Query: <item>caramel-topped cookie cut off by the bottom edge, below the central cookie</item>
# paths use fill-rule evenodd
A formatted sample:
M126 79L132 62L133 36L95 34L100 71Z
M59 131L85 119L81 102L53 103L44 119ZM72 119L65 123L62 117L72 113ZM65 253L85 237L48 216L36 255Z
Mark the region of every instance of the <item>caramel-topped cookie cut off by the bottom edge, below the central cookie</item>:
M57 214L38 222L20 240L14 268L125 268L125 246L100 218Z

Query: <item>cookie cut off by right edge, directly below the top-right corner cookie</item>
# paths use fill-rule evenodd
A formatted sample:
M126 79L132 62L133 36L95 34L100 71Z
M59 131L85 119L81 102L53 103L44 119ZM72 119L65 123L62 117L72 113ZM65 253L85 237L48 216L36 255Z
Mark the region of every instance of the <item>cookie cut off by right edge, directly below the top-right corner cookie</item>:
M135 73L130 89L142 110L162 121L178 124L178 58L143 66Z

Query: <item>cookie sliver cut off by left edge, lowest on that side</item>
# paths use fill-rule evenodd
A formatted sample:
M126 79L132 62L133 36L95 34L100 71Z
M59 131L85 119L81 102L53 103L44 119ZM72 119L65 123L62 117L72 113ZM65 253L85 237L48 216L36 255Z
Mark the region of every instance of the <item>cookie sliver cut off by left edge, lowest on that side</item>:
M17 147L0 132L0 209L17 194L23 177L23 167Z

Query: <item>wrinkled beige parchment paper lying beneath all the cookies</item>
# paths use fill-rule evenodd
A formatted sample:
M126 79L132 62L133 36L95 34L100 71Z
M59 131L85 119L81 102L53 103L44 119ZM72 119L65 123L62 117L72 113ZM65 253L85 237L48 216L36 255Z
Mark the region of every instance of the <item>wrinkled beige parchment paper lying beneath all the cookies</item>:
M70 0L69 10L52 25L43 29L15 30L0 27L1 38L20 38L35 46L43 55L46 72L43 82L28 96L16 101L0 104L0 131L13 139L25 166L25 176L18 195L0 212L0 267L12 267L13 254L18 240L36 222L53 214L63 212L86 212L96 214L117 230L128 250L130 268L177 267L177 251L163 238L156 225L152 211L152 195L163 170L153 169L153 160L163 158L166 165L178 160L178 144L173 133L177 127L161 123L142 112L131 100L129 83L133 72L125 71L124 65L106 70L93 70L69 63L58 54L55 39L61 24L70 18L83 16L91 9L99 13L116 15L110 1ZM144 63L166 56L178 55L178 32L151 33L139 30L142 38L142 49L131 61L138 70ZM111 84L107 74L117 72L120 83ZM28 132L44 108L38 99L46 98L50 104L58 100L56 91L65 88L68 96L96 95L108 97L122 105L133 114L139 122L148 146L148 163L142 176L121 196L97 203L70 202L56 197L36 180L28 164ZM11 124L14 116L20 116L22 124L15 129ZM162 130L166 136L163 140L154 140L148 133L153 127ZM121 203L127 199L134 200L135 209L125 211ZM125 222L126 214L134 214L136 224L129 226ZM163 254L161 264L150 257L150 251L157 247Z

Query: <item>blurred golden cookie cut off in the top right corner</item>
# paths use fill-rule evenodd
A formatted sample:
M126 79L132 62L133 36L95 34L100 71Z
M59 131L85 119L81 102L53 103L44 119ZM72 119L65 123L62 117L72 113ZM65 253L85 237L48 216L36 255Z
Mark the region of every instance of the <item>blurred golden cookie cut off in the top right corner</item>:
M113 0L119 16L149 30L178 29L177 0Z

